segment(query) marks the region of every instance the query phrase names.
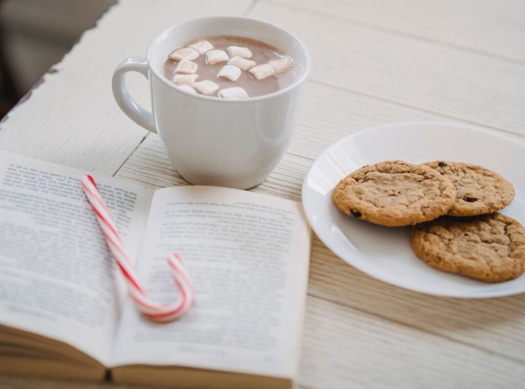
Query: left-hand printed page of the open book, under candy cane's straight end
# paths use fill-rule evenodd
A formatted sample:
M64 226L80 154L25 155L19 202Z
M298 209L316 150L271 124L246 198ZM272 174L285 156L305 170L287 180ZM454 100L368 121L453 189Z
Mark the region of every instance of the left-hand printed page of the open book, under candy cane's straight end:
M0 152L0 324L67 342L107 364L124 290L82 175ZM136 258L154 192L94 178Z

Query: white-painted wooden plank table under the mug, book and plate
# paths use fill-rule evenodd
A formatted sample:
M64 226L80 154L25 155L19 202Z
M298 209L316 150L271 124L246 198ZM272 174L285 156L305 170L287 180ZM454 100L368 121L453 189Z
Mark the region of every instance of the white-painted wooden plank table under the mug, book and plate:
M295 138L255 191L300 200L324 148L383 123L469 123L525 141L522 0L127 0L8 114L0 148L151 187L185 184L158 137L120 112L111 75L167 26L212 14L276 23L313 57ZM129 83L148 104L146 81ZM419 295L362 274L317 238L310 267L303 388L525 387L525 295ZM105 386L0 377L2 388Z

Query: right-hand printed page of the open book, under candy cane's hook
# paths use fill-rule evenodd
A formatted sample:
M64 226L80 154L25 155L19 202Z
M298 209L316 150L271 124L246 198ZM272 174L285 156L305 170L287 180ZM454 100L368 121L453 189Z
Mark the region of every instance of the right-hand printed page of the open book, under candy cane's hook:
M139 255L146 291L176 298L166 265L182 257L192 310L155 324L127 301L113 365L157 364L294 377L311 232L299 203L209 186L156 191Z

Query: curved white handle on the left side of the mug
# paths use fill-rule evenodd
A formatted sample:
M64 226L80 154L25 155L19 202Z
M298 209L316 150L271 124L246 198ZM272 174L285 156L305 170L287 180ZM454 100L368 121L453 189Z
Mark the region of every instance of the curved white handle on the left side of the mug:
M120 65L117 66L117 69L113 72L113 80L111 83L115 101L117 101L120 109L127 114L131 120L146 130L156 133L153 114L139 106L128 92L128 87L124 79L125 73L128 71L138 71L145 78L148 78L148 60L143 57L130 57L120 62Z

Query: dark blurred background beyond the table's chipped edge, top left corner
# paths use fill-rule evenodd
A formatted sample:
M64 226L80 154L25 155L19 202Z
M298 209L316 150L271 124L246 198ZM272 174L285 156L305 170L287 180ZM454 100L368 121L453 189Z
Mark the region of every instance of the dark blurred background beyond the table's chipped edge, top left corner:
M0 118L116 0L0 0Z

